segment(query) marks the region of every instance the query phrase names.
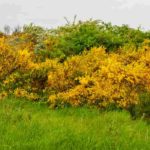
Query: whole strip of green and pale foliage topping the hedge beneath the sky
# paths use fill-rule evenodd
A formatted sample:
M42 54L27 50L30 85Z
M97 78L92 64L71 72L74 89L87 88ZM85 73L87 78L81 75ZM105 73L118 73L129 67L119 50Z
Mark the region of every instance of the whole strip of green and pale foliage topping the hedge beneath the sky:
M19 38L20 34L25 35L24 40ZM18 38L14 38L12 42L16 39L17 43L22 40L31 42L35 54L44 61L45 58L64 59L91 47L104 46L108 52L117 51L126 45L134 45L137 49L145 39L150 39L150 32L91 19L69 23L56 29L29 24L23 29L19 28L19 32L14 32L13 36Z

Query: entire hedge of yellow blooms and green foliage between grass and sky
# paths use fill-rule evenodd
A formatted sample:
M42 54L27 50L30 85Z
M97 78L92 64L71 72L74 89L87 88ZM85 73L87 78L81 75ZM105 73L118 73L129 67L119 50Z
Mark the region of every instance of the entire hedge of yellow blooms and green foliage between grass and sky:
M57 29L30 24L0 35L0 99L11 95L51 108L113 106L149 116L141 101L149 92L148 31L89 20Z

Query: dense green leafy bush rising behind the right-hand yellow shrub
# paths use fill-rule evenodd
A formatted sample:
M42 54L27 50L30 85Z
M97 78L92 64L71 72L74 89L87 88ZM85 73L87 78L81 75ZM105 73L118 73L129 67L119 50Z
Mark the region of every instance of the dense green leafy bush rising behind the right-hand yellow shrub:
M138 48L145 39L150 38L150 32L144 32L140 28L133 29L128 25L113 26L98 20L67 24L53 30L52 33L58 38L54 53L61 51L65 57L98 46L106 47L108 52L117 51L129 44Z

